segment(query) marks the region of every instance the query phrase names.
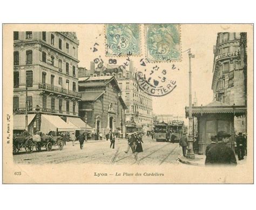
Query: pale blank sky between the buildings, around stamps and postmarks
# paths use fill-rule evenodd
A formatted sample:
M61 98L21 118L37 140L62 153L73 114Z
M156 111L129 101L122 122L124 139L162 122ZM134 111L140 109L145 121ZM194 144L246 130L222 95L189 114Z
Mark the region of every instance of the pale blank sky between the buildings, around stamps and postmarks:
M140 26L142 57L131 57L134 66L140 69L139 60L145 58L144 25ZM212 68L213 68L213 46L216 44L217 33L232 30L231 27L223 25L207 24L182 24L180 30L181 51L191 48L195 55L192 58L192 103L194 93L196 92L198 106L206 105L213 100ZM104 62L109 58L105 57L105 30L103 24L88 24L77 30L77 36L80 41L78 50L79 66L90 69L90 61L101 57ZM91 48L97 43L97 52L92 52ZM125 58L117 58L118 65L122 64ZM185 116L185 106L188 106L188 54L182 54L182 60L174 63L179 71L170 71L169 77L177 81L177 88L170 94L162 97L153 97L153 113L155 114L174 114ZM147 68L152 68L153 64L148 64ZM155 65L155 64L154 64ZM157 64L160 68L171 70L170 64Z

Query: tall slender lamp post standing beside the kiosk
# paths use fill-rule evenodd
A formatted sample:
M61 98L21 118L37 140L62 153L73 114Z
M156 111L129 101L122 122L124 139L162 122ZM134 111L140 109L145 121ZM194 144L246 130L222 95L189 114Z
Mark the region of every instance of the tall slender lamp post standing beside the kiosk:
M191 85L191 58L194 58L194 55L191 53L190 49L188 50L188 58L189 58L189 109L188 109L188 147L187 147L187 155L186 158L194 159L194 149L193 149L193 118L192 118L192 85Z

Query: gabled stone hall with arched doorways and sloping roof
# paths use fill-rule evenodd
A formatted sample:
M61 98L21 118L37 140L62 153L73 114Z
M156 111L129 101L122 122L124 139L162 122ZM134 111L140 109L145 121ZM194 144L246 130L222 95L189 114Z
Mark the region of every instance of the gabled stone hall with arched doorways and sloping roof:
M90 76L79 78L79 115L87 120L96 138L110 130L125 136L125 109L127 108L114 76Z

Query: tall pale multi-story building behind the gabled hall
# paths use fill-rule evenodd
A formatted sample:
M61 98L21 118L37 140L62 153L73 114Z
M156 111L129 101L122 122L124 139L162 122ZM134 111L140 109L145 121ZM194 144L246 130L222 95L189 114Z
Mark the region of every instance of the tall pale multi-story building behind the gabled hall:
M136 68L130 61L129 66L108 65L102 68L95 68L91 62L90 70L79 68L80 76L102 76L113 75L118 81L119 88L122 90L122 98L127 106L125 110L125 123L136 123L142 126L144 131L152 130L153 113L152 97L138 87L135 79Z

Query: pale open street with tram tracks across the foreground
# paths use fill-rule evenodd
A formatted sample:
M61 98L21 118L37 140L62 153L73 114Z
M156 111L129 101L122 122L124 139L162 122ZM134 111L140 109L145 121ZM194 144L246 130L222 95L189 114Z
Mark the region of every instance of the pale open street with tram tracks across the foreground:
M143 138L143 152L138 153L137 158L131 149L128 153L126 139L117 139L115 148L110 148L110 141L88 141L80 150L79 143L75 146L67 142L62 151L53 147L48 152L33 151L25 153L20 151L14 156L14 163L19 164L61 164L61 163L95 163L95 164L178 164L177 159L181 155L178 143L156 142L149 137ZM34 148L35 150L35 148Z

